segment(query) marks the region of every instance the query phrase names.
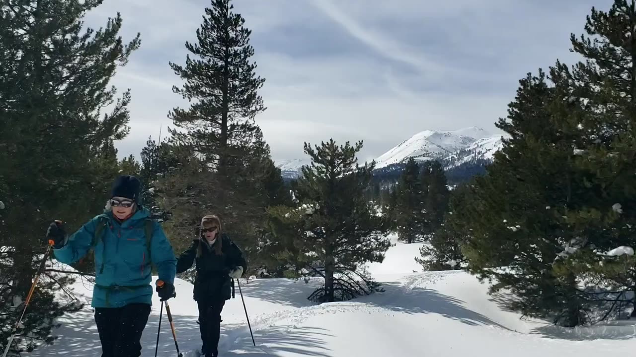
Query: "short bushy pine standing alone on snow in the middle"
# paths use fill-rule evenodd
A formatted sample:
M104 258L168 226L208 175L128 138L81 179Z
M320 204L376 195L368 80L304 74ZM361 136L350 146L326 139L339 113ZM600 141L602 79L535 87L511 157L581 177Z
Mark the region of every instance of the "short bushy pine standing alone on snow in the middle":
M312 165L303 167L294 192L302 205L270 210L273 237L293 239L282 241L290 271L324 279L312 301L348 300L377 289L363 264L381 262L390 243L385 222L364 199L375 163L357 164L361 147L329 140L312 149L305 143Z

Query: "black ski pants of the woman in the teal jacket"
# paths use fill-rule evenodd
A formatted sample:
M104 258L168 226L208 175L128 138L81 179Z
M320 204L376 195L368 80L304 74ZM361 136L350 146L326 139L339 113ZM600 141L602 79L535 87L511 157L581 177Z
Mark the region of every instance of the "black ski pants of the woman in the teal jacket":
M149 304L95 308L95 323L102 342L102 357L141 356L141 334L144 332Z

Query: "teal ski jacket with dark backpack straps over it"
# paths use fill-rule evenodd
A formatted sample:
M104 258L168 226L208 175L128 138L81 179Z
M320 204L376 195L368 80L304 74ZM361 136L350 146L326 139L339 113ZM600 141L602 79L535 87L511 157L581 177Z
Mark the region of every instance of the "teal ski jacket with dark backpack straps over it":
M122 307L132 303L152 305L155 289L151 285L151 263L156 266L158 279L174 284L177 259L162 227L155 220L151 221L150 247L146 244L146 220L149 217L148 209L141 208L120 223L112 212L104 212L67 237L62 248L53 250L57 260L73 264L94 249L93 307ZM100 219L106 221L106 226L101 230L101 237L97 237L95 230Z

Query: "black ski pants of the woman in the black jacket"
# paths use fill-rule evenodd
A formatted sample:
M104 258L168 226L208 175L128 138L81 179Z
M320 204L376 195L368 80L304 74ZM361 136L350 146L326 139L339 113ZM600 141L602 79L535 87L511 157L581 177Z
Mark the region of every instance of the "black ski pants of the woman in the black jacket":
M203 341L202 352L205 356L219 354L219 337L221 335L221 311L225 299L205 299L197 301L199 309L199 329Z

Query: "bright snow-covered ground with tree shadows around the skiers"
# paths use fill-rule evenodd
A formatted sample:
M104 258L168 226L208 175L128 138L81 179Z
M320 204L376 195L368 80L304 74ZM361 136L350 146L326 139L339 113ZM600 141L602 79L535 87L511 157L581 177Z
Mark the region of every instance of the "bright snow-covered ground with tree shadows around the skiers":
M369 266L385 292L349 302L312 304L306 298L313 282L241 280L256 347L237 286L236 299L223 311L220 355L598 357L632 354L636 349L635 321L569 330L520 320L518 314L502 309L502 297L488 296L488 286L467 273L422 273L413 260L420 246L397 243L389 248L382 264ZM190 283L177 280L176 286L177 298L169 302L179 347L188 357L200 346L197 307ZM75 289L90 297L90 289L81 283ZM155 355L160 304L154 304L142 356ZM30 356L100 356L90 307L60 321L64 325L55 330L60 336L55 345ZM165 316L158 355L176 356Z

